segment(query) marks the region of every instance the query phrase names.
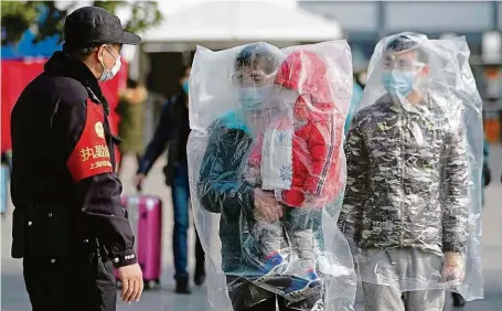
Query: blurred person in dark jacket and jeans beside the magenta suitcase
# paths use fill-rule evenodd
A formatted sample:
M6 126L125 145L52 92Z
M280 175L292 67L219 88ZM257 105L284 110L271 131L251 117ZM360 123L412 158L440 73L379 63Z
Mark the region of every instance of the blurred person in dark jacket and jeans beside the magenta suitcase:
M168 164L164 168L165 184L171 186L172 205L174 208L173 255L174 279L178 293L190 293L188 266L188 230L189 217L189 167L186 161L186 142L190 135L189 122L189 75L191 67L183 67L180 73L180 94L168 100L162 108L160 121L152 140L140 160L135 178L135 185L141 184L156 160L168 144ZM199 235L195 234L195 274L194 282L201 286L205 280L204 250Z

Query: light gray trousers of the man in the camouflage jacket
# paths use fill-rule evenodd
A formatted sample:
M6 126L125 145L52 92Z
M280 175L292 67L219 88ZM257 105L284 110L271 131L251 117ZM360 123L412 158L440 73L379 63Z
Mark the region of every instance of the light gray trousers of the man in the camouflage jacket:
M442 311L445 290L410 290L427 288L437 281L441 257L418 249L366 249L361 254L366 311ZM383 276L386 274L386 276ZM378 285L378 279L386 285ZM395 283L388 280L395 280ZM381 283L382 283L381 282Z

